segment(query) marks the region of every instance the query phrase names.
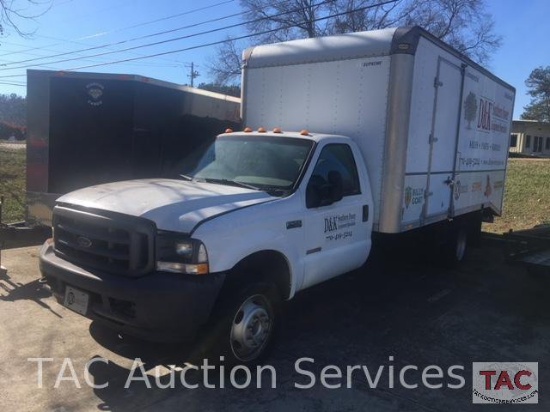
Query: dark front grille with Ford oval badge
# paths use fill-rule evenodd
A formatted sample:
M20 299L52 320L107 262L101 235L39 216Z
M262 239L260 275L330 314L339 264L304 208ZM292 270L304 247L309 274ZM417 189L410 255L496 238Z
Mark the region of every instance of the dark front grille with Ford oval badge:
M101 271L140 276L154 268L153 222L110 212L56 206L55 253Z

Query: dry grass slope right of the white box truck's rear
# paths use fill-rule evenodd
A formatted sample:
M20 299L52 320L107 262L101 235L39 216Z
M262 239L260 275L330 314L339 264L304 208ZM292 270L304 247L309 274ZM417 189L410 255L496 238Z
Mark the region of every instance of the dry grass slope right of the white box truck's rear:
M504 210L483 230L504 233L550 223L550 159L509 159Z

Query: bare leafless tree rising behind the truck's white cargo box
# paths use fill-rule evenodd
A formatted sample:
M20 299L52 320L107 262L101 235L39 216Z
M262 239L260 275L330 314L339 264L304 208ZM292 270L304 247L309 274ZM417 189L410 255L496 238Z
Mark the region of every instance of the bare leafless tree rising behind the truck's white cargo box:
M255 44L418 25L485 63L501 43L484 0L241 0L241 7ZM217 82L238 80L241 59L236 50L234 42L218 48L219 57L210 67Z

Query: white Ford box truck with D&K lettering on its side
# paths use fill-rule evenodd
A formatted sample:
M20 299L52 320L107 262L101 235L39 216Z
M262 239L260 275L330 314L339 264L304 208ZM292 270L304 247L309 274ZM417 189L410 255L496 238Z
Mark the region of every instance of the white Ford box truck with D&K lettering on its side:
M60 302L147 339L206 330L255 362L280 302L361 267L374 234L460 260L502 210L515 91L418 27L251 48L242 87L252 129L180 180L58 199L40 265Z

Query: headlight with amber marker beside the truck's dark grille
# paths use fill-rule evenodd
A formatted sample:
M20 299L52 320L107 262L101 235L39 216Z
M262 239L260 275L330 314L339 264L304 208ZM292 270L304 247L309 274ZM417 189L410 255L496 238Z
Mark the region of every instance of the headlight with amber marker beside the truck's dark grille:
M208 253L197 239L185 238L179 233L157 233L157 270L190 275L209 272Z

